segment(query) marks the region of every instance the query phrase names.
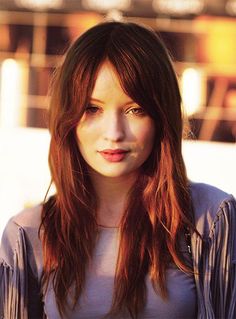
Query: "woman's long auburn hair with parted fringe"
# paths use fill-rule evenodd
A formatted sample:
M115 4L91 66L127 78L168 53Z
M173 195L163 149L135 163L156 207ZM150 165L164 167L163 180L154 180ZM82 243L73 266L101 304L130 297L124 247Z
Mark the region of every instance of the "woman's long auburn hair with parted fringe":
M140 168L120 223L109 312L128 310L136 318L145 306L147 274L155 291L168 298L168 264L174 262L181 270L191 271L178 242L187 228L194 231L181 153L178 82L167 49L158 35L144 26L105 22L92 27L71 45L53 78L49 165L56 194L45 200L42 211L43 287L47 289L52 281L62 314L69 295L75 306L85 286L98 235L97 202L75 129L105 61L113 65L124 92L145 109L156 126L152 152Z

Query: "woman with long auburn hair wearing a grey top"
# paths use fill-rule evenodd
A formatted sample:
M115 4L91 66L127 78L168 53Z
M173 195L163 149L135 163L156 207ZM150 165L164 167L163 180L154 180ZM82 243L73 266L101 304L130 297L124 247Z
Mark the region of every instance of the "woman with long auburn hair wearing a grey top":
M187 180L180 104L153 31L103 23L71 46L51 90L56 195L5 229L4 318L235 318L236 204Z

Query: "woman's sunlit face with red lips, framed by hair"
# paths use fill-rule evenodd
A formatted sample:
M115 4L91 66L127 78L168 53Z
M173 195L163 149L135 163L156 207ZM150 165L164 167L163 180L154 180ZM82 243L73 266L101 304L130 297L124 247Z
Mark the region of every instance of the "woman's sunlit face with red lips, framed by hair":
M100 67L76 135L90 169L106 177L136 174L151 153L154 122L124 93L108 62Z

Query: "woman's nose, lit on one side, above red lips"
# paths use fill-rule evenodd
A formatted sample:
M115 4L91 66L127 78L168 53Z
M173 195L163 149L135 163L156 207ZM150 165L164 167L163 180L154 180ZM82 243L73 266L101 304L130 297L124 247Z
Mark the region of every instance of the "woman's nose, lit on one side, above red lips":
M125 123L121 114L108 114L103 124L105 140L119 142L125 138Z

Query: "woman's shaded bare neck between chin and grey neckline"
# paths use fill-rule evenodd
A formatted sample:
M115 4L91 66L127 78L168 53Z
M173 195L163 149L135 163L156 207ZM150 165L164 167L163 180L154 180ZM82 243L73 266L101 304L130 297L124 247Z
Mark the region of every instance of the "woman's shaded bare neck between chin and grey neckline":
M137 179L136 174L113 178L92 173L91 179L98 198L98 224L118 227L129 191Z

